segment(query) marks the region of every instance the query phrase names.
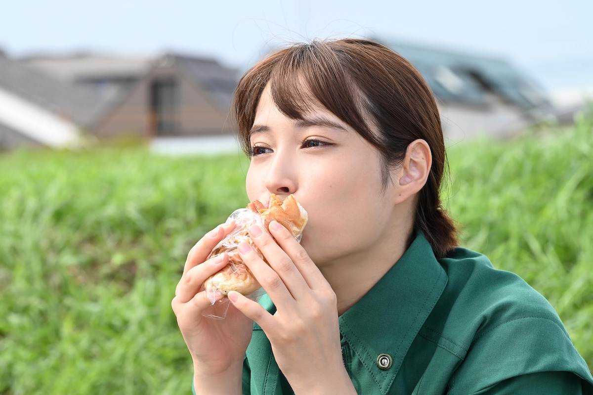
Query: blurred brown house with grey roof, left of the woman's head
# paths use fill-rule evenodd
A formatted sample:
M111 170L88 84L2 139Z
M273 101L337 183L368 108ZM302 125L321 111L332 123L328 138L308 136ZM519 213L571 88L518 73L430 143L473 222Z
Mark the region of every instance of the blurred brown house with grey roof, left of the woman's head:
M90 129L100 139L219 136L234 130L228 110L237 70L214 59L81 54L21 62L101 95L107 103Z

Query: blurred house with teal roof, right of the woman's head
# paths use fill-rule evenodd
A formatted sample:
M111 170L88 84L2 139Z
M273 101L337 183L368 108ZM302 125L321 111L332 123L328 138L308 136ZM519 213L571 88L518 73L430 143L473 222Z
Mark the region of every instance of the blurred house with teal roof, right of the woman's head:
M382 42L431 86L448 142L479 134L503 138L553 114L543 90L504 59Z

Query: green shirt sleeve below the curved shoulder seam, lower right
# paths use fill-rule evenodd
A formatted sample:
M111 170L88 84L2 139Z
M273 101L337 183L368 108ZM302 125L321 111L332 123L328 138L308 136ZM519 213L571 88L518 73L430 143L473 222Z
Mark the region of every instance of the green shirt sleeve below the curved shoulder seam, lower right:
M449 393L511 394L514 386L522 386L525 389L515 393L589 395L593 391L591 381L585 361L559 323L521 317L496 326L474 341L452 378ZM578 392L563 386L578 388Z

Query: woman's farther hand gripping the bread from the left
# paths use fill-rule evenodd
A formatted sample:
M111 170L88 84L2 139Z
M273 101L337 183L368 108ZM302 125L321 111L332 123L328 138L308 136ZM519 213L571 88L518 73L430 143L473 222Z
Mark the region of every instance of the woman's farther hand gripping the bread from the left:
M224 320L202 316L211 306L206 291L201 290L202 284L228 263L226 254L206 258L233 227L232 223L220 225L193 246L171 302L192 355L197 393L241 393L243 358L251 340L253 321L232 304Z

